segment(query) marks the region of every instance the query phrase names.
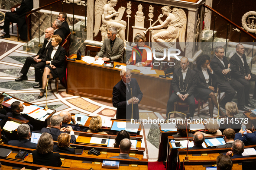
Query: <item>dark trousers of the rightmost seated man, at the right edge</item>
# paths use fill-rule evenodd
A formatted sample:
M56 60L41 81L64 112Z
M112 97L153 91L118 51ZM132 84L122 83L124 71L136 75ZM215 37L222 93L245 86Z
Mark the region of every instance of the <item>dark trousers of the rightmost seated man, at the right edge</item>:
M250 81L252 82L256 82L256 75L255 74L251 74L251 79L250 81L244 79L244 78L240 78L237 79L238 82L240 82L242 85L244 85L244 97L245 97L245 102L248 102L250 99ZM256 83L254 85L254 94L253 97L256 97ZM247 103L246 103L247 104Z

